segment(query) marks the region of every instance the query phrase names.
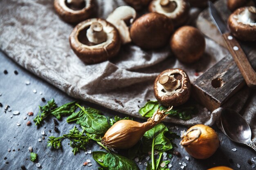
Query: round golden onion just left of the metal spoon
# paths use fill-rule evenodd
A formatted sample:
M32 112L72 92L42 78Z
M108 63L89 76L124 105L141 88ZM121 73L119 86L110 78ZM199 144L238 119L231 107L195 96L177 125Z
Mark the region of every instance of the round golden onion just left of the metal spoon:
M192 157L207 159L220 145L216 132L209 126L198 124L189 128L182 136L180 144Z

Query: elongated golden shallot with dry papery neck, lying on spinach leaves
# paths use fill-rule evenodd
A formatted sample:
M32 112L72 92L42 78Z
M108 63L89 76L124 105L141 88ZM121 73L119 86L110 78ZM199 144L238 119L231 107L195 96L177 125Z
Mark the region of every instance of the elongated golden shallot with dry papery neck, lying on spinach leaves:
M146 131L153 128L168 116L165 112L168 112L171 109L172 107L167 110L158 109L153 116L144 123L139 123L133 120L119 120L108 129L104 137L101 139L101 143L108 148L131 148L137 144Z

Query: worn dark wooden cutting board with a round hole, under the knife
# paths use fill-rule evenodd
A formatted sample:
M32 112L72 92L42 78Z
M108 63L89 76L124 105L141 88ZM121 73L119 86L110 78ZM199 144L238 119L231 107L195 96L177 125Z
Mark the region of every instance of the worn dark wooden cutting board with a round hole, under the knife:
M227 9L226 0L218 0L215 4L223 19L227 21L231 11ZM198 29L207 37L224 46L225 42L216 26L211 21L208 9L200 13L196 21ZM256 68L256 43L240 42L252 67ZM192 84L192 96L210 111L222 106L234 93L245 85L242 74L231 55L225 56L217 64L202 74Z

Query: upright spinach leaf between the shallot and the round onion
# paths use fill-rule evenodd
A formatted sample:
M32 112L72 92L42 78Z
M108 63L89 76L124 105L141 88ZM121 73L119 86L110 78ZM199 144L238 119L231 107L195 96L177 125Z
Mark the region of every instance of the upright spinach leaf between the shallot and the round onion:
M164 124L157 124L152 129L145 132L142 137L143 151L149 152L151 150L153 139L153 147L159 152L166 152L173 148L171 141L164 136L164 133L168 132L168 128Z

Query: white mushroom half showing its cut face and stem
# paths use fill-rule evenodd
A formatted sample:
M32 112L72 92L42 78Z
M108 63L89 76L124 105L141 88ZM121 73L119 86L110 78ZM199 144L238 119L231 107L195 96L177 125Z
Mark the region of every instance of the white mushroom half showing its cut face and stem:
M121 6L116 8L107 18L107 21L115 25L121 36L123 44L131 42L129 25L136 18L136 11L130 6Z

